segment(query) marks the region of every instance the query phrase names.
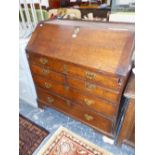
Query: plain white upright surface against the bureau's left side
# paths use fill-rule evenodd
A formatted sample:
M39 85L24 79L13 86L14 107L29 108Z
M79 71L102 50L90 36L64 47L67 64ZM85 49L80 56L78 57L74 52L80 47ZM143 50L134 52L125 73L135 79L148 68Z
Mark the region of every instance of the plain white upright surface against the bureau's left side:
M19 98L37 107L37 95L25 53L28 41L29 38L19 40Z

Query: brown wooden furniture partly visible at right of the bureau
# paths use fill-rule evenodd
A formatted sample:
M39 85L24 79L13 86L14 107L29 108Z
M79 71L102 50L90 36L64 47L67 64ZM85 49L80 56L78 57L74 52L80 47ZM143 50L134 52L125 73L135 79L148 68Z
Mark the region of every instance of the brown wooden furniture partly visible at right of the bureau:
M135 146L135 75L131 73L124 92L125 105L121 128L118 133L117 145Z

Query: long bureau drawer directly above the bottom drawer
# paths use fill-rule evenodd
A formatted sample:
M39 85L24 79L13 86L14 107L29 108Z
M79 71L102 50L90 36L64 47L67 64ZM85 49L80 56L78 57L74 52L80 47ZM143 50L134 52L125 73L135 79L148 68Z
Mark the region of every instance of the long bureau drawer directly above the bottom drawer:
M66 97L88 108L92 108L93 110L96 110L97 112L102 113L103 115L109 116L114 119L116 117L116 105L108 103L95 96L90 96L88 94L81 93L80 91L70 87L66 87L63 84L45 80L40 76L33 76L33 78L37 86L46 89L47 91Z

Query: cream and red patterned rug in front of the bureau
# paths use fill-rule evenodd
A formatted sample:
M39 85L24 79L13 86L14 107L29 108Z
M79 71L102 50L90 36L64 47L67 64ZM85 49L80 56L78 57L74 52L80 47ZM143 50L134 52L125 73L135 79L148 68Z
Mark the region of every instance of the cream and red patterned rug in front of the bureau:
M37 155L112 155L112 153L60 127Z

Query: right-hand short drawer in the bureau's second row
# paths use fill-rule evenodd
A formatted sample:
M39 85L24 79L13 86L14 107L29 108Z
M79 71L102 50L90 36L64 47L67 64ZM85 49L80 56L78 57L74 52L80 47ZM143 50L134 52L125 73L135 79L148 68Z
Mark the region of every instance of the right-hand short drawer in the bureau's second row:
M113 92L94 83L90 83L88 81L82 81L71 77L67 78L67 82L69 86L79 89L80 91L88 92L92 95L104 98L113 103L119 102L120 98L119 92Z

